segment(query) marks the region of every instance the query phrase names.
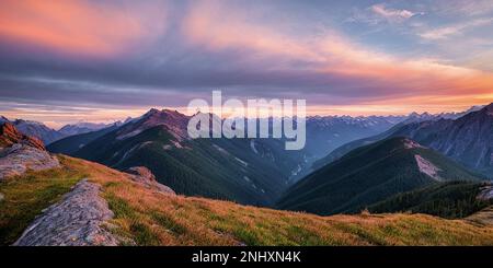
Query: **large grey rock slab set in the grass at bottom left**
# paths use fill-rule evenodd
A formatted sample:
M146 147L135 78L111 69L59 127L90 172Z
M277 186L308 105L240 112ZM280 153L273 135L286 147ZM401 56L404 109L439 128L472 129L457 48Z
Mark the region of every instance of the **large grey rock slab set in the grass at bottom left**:
M14 246L116 246L119 241L105 228L113 218L100 186L79 182L64 199L50 206L24 231Z

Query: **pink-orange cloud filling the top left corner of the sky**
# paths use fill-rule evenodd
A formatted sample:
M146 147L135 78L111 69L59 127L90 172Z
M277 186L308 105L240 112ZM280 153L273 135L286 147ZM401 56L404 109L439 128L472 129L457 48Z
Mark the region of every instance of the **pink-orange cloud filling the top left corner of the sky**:
M82 55L115 55L145 36L144 14L82 0L3 0L1 38Z

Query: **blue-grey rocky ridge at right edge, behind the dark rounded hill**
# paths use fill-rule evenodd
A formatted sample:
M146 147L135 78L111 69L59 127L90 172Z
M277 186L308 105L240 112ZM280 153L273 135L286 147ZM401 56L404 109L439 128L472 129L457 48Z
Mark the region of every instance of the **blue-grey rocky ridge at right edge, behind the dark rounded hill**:
M320 167L331 163L355 148L388 137L404 136L493 177L492 110L493 104L490 104L456 119L403 121L383 133L356 140L335 149L316 163L316 166Z

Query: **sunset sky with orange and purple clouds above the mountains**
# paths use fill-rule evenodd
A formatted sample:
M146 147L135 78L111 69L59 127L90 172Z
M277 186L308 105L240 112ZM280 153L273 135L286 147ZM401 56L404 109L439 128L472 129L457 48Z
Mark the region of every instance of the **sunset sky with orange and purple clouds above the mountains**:
M0 0L0 115L60 126L193 98L309 115L493 102L493 0Z

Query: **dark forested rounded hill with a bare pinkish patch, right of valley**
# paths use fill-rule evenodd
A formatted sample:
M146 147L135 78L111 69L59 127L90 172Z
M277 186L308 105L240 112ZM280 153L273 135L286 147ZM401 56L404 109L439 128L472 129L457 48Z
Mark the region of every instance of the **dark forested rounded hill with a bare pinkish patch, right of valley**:
M423 172L419 161L431 171ZM319 214L357 212L395 194L448 180L481 177L410 139L390 138L353 150L308 175L277 207Z

